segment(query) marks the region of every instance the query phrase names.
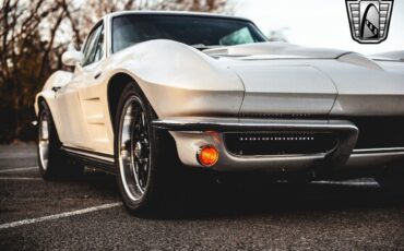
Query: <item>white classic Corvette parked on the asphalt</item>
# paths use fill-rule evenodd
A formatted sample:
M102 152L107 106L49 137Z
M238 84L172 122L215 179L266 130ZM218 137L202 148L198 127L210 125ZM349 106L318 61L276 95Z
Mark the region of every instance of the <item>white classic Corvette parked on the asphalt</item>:
M55 72L35 103L40 174L116 174L132 213L158 207L186 168L352 174L404 191L403 52L270 43L246 19L130 11L104 16L62 61L74 72Z

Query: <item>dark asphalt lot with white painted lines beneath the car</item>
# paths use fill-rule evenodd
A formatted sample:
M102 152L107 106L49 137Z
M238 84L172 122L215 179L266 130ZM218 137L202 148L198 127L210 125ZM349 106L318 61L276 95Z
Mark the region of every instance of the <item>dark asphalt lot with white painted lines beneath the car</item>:
M404 205L372 180L213 186L183 212L136 218L114 177L45 182L34 146L0 146L0 250L404 250Z

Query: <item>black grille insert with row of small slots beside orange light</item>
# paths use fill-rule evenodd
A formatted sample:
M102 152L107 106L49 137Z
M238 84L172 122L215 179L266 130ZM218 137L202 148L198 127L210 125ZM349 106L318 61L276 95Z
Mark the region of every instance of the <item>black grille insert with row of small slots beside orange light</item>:
M332 132L240 132L224 140L230 153L247 156L326 153L337 144Z

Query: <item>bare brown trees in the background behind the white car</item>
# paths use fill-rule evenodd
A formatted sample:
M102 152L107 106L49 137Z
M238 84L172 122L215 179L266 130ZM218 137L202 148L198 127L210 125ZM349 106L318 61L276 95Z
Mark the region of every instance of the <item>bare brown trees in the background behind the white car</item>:
M104 14L122 10L223 12L226 0L3 0L0 1L0 143L27 139L35 94L61 53L80 46ZM73 39L72 39L73 38Z

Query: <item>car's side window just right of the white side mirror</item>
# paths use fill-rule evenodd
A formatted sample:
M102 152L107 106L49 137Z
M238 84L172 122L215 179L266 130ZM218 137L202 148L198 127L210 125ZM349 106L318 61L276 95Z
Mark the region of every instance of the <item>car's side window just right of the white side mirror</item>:
M103 58L104 25L99 25L90 34L83 51L83 67Z

